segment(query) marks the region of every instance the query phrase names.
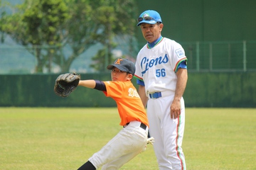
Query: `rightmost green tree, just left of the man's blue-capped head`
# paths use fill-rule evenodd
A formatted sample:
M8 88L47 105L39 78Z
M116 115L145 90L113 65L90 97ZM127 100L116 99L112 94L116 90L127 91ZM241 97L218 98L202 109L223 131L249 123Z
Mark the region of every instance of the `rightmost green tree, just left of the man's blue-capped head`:
M102 6L97 8L97 21L102 24L103 33L99 35L98 41L102 43L103 49L92 57L95 64L91 64L96 70L104 71L107 64L114 61L112 50L117 47L113 38L123 38L129 35L127 45L129 45L130 55L134 53L134 31L136 28L137 8L134 0L109 0L100 1ZM95 2L92 6L99 6ZM126 39L127 40L127 39Z

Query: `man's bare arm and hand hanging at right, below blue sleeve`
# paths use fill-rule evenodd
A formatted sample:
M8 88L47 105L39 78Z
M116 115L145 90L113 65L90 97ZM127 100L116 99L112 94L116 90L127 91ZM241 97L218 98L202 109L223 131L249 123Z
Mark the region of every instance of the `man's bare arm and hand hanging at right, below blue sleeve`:
M186 83L188 81L188 70L179 68L176 72L177 84L174 95L174 101L171 103L171 118L178 118L181 115L181 97L186 89Z

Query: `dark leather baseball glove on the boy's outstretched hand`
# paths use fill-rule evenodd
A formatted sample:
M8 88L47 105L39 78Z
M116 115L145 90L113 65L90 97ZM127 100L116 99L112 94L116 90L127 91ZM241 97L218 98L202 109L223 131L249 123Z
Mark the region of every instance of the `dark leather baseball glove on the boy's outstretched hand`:
M60 97L68 97L78 87L81 76L75 73L60 74L55 80L54 92Z

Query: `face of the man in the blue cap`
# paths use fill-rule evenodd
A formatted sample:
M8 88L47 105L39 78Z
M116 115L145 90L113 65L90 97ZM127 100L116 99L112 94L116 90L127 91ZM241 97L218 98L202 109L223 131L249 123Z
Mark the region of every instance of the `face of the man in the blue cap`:
M142 35L148 42L154 42L161 35L161 30L164 27L163 23L149 24L142 23L141 25Z

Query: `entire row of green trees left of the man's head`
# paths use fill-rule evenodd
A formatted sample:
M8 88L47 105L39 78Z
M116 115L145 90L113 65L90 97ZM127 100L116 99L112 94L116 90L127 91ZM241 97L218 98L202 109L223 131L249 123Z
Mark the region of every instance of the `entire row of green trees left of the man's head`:
M102 44L90 67L99 72L114 59L115 37L128 36L134 51L137 8L134 0L24 0L22 4L0 1L1 42L6 35L36 57L36 73L53 64L68 72L72 62L97 43ZM8 12L11 10L11 12ZM64 49L71 51L64 54Z

